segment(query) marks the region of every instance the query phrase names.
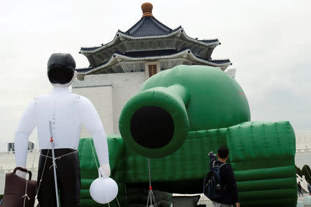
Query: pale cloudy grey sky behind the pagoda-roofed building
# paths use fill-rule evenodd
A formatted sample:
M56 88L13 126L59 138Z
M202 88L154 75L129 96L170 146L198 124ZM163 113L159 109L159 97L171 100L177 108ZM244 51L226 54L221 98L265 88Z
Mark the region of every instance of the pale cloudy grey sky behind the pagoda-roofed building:
M46 62L108 43L140 20L145 1L12 0L0 3L0 151L33 97L52 86ZM288 120L311 130L311 1L151 1L153 15L189 37L218 38L212 58L229 58L252 121Z

